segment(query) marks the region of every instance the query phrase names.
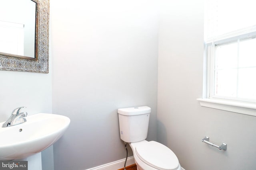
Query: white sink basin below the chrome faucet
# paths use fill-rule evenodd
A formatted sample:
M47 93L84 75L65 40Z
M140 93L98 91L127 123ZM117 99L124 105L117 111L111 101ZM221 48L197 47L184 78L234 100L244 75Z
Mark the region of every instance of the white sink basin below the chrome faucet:
M68 128L66 116L37 113L26 122L10 127L0 123L0 160L22 159L50 147Z

